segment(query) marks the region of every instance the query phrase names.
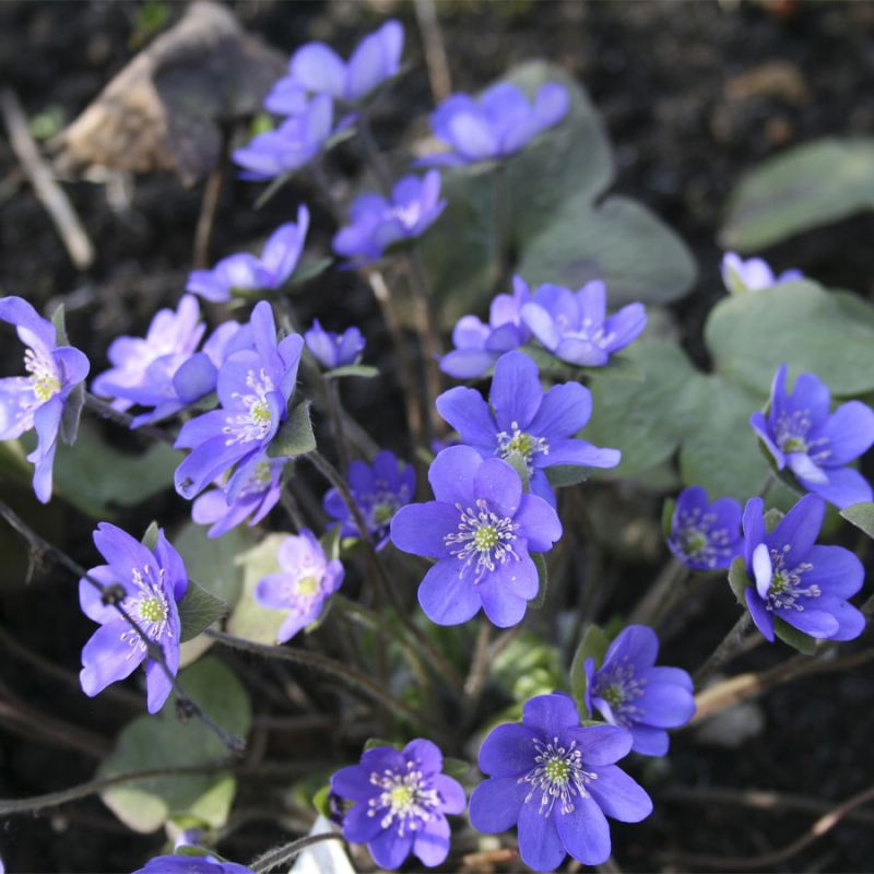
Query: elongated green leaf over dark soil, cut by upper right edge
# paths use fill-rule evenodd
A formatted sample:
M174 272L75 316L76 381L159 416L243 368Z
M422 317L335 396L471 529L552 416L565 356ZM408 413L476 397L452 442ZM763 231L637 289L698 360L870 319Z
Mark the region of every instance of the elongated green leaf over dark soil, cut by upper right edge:
M783 152L747 174L720 232L742 252L874 209L874 140L823 139Z

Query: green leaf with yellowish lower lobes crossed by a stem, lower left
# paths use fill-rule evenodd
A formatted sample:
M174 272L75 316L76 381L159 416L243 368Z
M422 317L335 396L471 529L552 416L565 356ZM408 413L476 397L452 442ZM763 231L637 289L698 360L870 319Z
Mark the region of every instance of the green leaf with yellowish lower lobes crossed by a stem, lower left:
M251 708L243 685L217 659L202 659L179 674L193 701L225 731L246 735ZM139 717L118 736L98 777L156 768L190 768L227 759L225 745L199 720L180 722L174 696L160 713ZM106 805L134 831L150 832L169 819L185 817L210 828L227 819L236 780L227 771L192 777L160 777L110 787L101 793Z

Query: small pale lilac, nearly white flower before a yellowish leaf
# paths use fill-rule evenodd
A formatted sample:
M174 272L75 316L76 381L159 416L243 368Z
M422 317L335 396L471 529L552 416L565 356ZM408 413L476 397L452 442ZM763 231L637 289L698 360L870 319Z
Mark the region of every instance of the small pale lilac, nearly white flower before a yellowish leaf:
M276 642L291 640L302 628L316 622L322 606L343 582L343 565L330 562L311 531L287 536L276 552L279 574L259 580L255 600L270 610L288 611Z

